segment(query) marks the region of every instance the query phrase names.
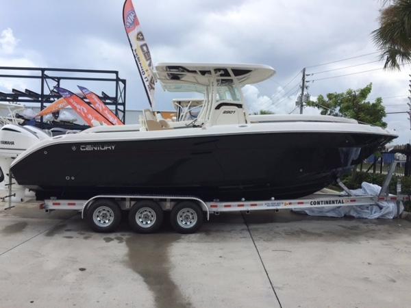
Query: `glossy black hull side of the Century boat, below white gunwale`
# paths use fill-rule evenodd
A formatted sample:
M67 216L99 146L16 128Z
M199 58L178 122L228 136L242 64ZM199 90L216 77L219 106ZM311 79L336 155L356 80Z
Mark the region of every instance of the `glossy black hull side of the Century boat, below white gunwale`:
M191 194L207 201L297 198L332 183L393 136L249 133L158 140L70 142L12 166L38 198Z

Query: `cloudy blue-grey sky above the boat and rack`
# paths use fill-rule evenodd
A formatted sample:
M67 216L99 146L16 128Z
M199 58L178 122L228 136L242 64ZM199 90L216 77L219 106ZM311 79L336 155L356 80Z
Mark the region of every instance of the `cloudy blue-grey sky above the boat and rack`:
M0 4L0 66L119 70L127 79L127 109L149 107L123 27L123 1L0 0ZM154 64L272 66L277 71L274 77L245 86L243 92L249 112L264 109L277 114L298 112L295 101L303 67L314 73L307 77L312 99L372 82L371 101L382 97L386 112L408 110L410 66L400 72L379 69L383 63L377 61L371 39L381 5L379 0L134 0ZM349 57L354 58L334 62ZM316 66L328 62L334 63ZM371 71L358 73L364 70ZM0 78L0 90L24 90L33 82ZM102 87L84 86L96 92ZM75 85L67 87L75 90ZM156 109L171 110L174 95L157 86ZM307 107L304 113L319 110ZM410 142L407 114L389 114L385 121L399 134L396 143Z

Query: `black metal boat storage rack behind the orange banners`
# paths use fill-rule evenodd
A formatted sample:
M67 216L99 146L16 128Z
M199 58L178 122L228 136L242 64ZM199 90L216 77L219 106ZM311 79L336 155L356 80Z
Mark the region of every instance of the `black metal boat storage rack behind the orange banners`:
M30 107L40 107L40 110L47 107L46 104L53 103L61 97L53 89L55 86L64 88L64 81L97 81L104 83L105 88L115 88L115 91L114 95L108 95L102 91L99 95L100 99L108 107L114 106L114 113L124 123L126 80L119 77L119 71L117 70L0 66L1 79L34 79L39 81L35 89L19 90L13 88L11 93L0 92L0 101L29 103ZM84 100L88 102L87 99ZM42 118L40 122L42 123Z

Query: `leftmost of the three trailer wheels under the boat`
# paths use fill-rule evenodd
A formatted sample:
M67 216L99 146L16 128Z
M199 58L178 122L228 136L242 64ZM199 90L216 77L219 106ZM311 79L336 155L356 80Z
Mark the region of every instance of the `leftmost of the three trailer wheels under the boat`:
M121 209L111 200L97 200L88 207L87 220L97 232L112 232L121 222Z

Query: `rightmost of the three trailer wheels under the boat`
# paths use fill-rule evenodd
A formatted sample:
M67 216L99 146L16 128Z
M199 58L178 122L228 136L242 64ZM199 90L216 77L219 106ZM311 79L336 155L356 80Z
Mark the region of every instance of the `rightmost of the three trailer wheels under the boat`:
M171 210L171 225L178 233L195 233L203 224L204 214L199 205L182 201Z

